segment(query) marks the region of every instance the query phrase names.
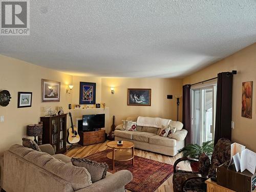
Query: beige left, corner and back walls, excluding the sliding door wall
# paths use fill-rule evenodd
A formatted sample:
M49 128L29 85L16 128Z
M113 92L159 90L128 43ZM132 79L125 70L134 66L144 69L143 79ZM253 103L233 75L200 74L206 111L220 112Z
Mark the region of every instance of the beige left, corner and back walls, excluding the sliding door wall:
M12 144L22 143L21 139L26 136L27 125L39 121L44 106L51 106L52 109L62 106L64 111L68 112L69 103L73 106L78 104L80 81L96 82L96 103L105 102L106 106L110 107L106 121L112 121L111 117L115 115L116 124L128 116L139 115L176 119L176 99L167 99L166 95L182 94L182 79L76 77L3 55L0 55L0 66L0 90L10 91L12 97L8 106L0 106L0 116L5 118L5 121L0 123L0 154ZM41 102L42 78L61 82L60 102ZM66 93L69 84L74 85L71 94ZM111 86L115 87L114 95L111 94ZM152 89L152 106L127 106L127 88ZM19 91L33 93L31 108L17 108ZM182 103L180 120L181 109ZM67 126L70 127L69 118ZM109 127L106 127L106 131L108 129Z

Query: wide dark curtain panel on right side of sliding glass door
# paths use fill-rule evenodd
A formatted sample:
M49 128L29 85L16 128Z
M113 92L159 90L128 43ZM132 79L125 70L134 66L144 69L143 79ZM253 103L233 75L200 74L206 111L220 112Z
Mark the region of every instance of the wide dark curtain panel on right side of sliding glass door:
M222 137L231 140L232 82L229 72L218 74L214 145Z

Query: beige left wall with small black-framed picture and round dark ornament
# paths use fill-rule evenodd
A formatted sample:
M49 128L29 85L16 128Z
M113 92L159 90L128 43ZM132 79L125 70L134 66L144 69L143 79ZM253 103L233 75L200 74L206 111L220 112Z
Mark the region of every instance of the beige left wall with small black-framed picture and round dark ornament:
M72 95L66 94L66 84L72 84L72 76L3 55L0 55L0 67L0 90L8 90L12 97L8 106L0 106L0 116L5 117L5 121L0 122L2 154L12 144L22 143L22 137L26 135L26 126L38 123L42 107L51 106L55 109L62 106L67 112ZM42 78L60 81L60 102L41 102ZM17 108L19 91L33 93L31 108Z

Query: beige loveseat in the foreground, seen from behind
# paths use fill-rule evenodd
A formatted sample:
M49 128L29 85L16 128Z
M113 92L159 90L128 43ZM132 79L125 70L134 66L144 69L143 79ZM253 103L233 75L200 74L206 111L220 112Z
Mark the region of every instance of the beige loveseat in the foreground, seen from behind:
M91 175L84 167L72 165L70 158L54 155L50 144L39 146L42 152L22 145L13 145L1 158L1 181L7 192L110 192L125 191L124 185L132 180L128 170L92 183ZM46 152L46 153L44 153Z

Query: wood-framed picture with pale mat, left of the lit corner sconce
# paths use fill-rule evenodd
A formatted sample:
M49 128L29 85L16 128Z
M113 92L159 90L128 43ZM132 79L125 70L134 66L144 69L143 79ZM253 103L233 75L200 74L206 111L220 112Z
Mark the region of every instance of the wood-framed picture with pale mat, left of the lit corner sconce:
M59 101L60 82L42 79L42 102Z

